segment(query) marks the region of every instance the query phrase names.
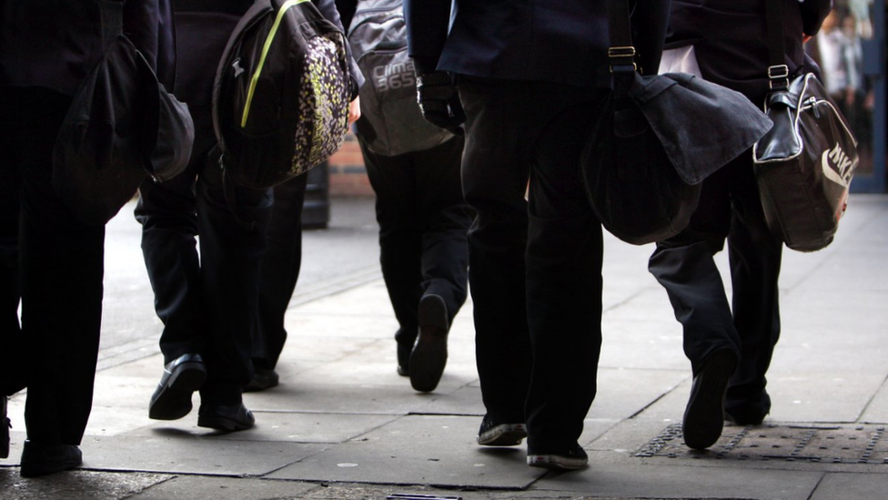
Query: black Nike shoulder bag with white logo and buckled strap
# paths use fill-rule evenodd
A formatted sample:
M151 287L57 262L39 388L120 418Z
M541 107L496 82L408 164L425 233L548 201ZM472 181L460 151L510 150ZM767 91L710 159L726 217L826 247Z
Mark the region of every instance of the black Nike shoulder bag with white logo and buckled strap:
M792 250L821 250L832 242L847 208L859 156L835 102L812 73L790 81L783 45L782 5L765 2L771 92L765 111L771 132L752 151L768 227Z

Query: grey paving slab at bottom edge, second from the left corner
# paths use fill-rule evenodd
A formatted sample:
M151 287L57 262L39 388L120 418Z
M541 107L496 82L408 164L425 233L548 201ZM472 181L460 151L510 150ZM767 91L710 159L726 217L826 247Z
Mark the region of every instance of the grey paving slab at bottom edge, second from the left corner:
M199 499L268 500L304 498L318 485L295 481L266 481L233 477L180 475L132 495L133 500Z

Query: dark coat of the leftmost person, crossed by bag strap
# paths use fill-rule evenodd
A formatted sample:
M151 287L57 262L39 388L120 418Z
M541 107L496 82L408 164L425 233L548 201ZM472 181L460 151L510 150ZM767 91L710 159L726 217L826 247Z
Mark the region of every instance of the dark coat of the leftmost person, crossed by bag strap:
M172 87L176 48L170 0L127 0L124 32ZM0 0L0 81L73 95L103 54L96 0Z

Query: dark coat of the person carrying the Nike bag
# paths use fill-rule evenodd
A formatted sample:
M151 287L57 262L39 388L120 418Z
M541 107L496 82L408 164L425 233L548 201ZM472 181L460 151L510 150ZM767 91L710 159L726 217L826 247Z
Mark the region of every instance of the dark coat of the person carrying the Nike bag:
M802 65L802 34L814 35L832 0L783 0L786 65ZM667 47L693 45L707 80L758 102L768 92L768 36L763 0L672 0Z

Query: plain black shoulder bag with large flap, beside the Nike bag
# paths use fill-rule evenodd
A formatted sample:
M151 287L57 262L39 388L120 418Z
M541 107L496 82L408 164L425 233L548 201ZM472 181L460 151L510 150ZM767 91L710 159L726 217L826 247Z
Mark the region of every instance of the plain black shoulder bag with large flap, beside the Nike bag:
M700 183L772 122L742 94L687 74L641 76L627 0L609 0L612 91L580 160L605 229L636 245L687 227Z

